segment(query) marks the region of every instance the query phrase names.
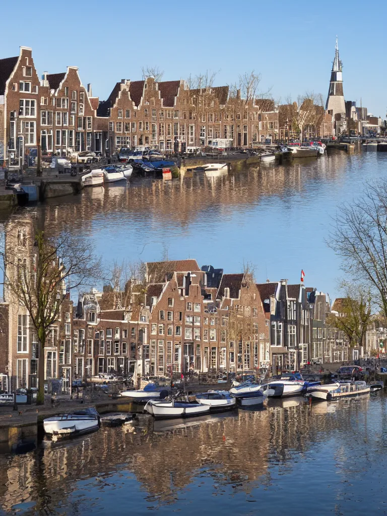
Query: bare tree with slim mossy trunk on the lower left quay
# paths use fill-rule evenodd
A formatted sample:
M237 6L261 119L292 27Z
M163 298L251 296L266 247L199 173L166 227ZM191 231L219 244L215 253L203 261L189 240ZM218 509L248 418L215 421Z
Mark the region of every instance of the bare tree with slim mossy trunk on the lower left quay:
M50 326L59 318L60 308L69 293L91 278L100 277L100 259L84 238L62 233L47 236L35 233L33 241L26 242L21 259L12 249L0 254L4 271L5 292L24 305L34 326L39 345L37 404L44 404L44 346Z

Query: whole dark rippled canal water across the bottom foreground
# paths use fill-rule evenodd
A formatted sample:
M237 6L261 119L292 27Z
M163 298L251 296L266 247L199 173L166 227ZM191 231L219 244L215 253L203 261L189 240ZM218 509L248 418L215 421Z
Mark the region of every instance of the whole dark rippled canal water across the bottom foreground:
M387 398L101 428L0 456L2 514L386 514ZM132 431L133 430L133 431Z

